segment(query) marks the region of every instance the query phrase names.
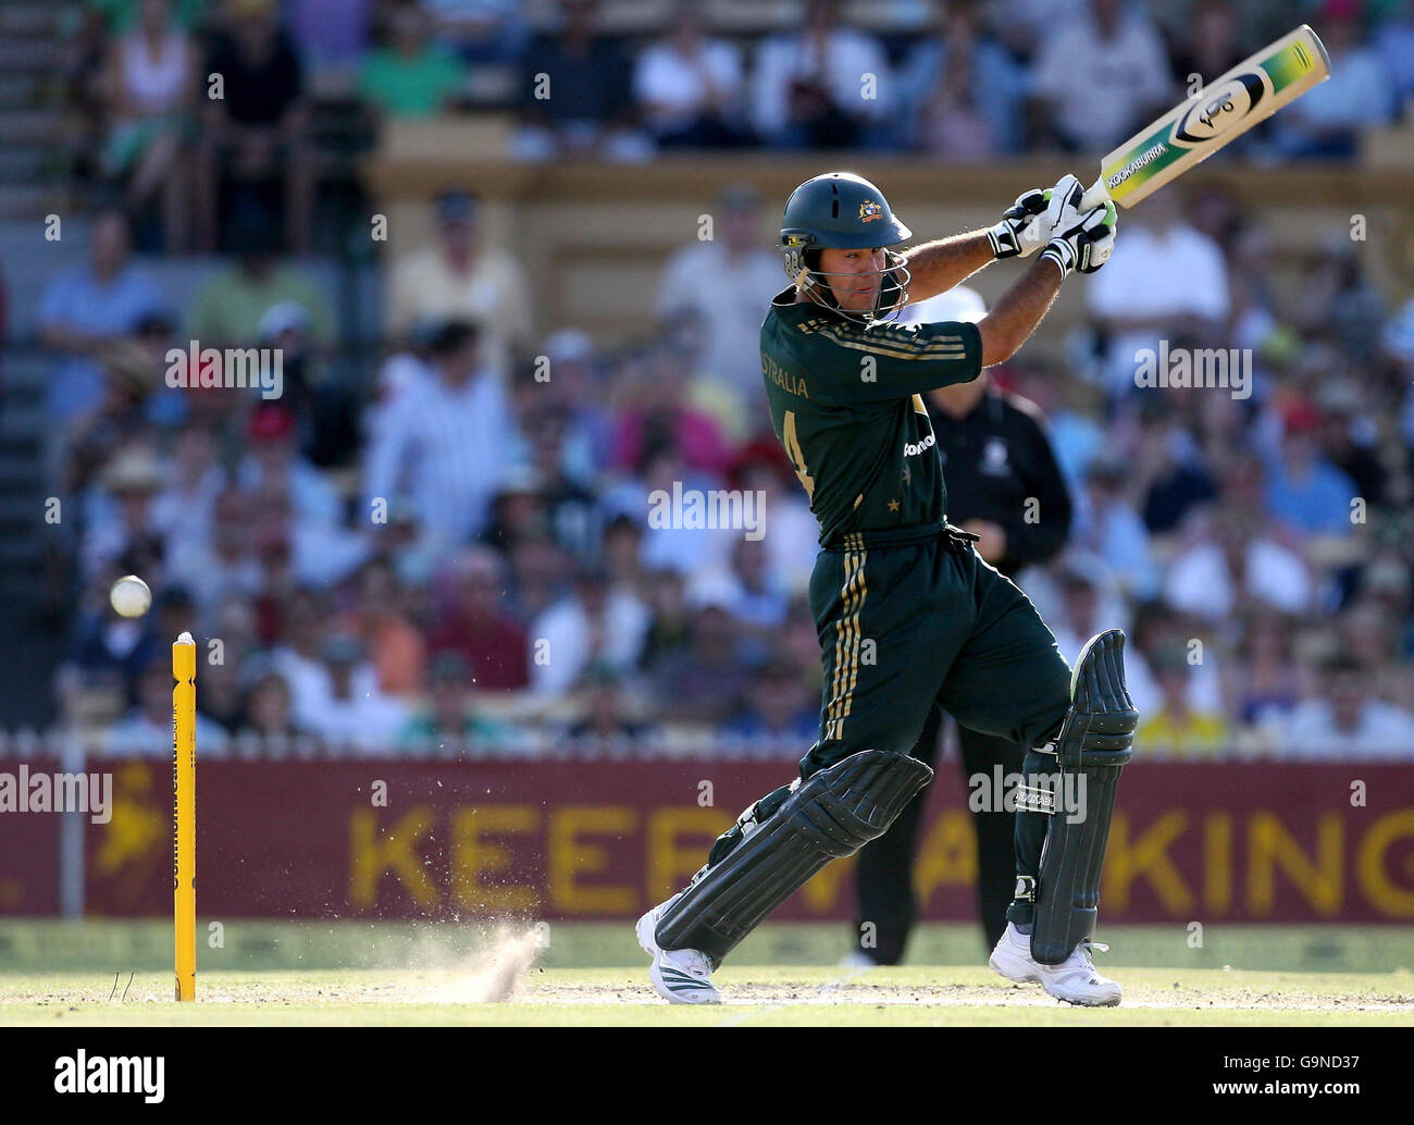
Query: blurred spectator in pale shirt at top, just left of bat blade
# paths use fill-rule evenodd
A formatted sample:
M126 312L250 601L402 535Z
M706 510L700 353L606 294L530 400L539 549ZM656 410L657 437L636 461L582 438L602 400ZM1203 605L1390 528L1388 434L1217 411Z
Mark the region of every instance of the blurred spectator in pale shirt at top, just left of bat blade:
M1174 91L1148 16L1092 0L1083 18L1042 30L1031 96L1045 136L1068 151L1104 153L1167 109Z

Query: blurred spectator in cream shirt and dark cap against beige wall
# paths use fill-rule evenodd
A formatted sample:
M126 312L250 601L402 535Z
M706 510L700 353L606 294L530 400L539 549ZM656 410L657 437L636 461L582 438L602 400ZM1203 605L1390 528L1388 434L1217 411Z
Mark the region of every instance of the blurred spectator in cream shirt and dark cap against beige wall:
M468 321L481 331L486 364L498 375L530 341L525 270L506 250L486 245L481 204L469 192L437 198L433 245L397 256L390 277L387 328L396 335L423 321Z

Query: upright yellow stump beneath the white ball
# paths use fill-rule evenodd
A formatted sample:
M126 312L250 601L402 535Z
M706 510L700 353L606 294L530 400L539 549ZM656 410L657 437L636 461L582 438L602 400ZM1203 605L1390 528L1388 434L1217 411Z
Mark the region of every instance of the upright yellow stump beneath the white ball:
M197 999L197 642L173 642L173 917L177 999Z

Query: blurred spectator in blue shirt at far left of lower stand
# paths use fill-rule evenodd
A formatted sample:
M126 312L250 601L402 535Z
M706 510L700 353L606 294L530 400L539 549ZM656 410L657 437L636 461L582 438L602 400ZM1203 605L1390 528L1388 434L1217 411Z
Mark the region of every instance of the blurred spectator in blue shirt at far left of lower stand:
M49 417L62 423L96 405L103 396L103 351L164 306L156 283L132 262L127 217L99 211L88 262L55 276L40 299L40 341L55 359L47 385Z

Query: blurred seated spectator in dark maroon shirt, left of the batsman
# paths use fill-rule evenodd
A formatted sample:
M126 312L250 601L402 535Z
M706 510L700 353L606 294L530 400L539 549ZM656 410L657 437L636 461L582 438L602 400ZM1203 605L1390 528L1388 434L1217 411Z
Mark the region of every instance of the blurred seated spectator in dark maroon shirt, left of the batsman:
M481 546L461 550L447 562L444 583L445 604L427 635L428 651L457 655L478 691L525 688L530 682L530 642L502 608L506 582L501 558Z

